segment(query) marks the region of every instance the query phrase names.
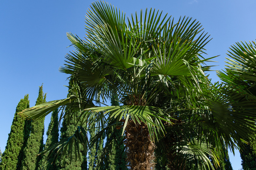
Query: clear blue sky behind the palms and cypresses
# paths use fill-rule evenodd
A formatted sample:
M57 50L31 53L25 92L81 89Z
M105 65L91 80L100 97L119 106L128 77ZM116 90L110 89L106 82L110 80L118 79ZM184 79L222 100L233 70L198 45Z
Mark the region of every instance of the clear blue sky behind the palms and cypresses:
M226 50L238 41L256 39L255 0L109 0L130 16L145 8L163 10L176 20L188 16L202 23L204 31L213 38L206 46L208 56L215 58L224 68ZM35 105L39 86L47 101L67 96L67 75L58 71L64 63L65 54L74 48L66 32L85 35L84 18L92 1L5 1L0 2L0 148L5 150L8 133L15 108L25 94L29 94L30 106ZM215 72L210 73L213 81L219 81ZM50 116L46 117L47 130ZM44 137L46 140L46 136ZM230 160L234 170L241 168L239 152Z

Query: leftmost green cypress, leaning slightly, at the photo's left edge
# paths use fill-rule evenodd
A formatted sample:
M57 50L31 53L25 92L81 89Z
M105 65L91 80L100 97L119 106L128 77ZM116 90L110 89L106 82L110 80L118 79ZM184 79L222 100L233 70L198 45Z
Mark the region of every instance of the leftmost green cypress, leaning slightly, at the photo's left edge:
M29 137L30 122L21 118L18 113L29 108L29 95L25 95L16 107L16 112L11 125L11 132L7 140L7 145L2 156L0 169L13 170L20 169L20 163L24 155L24 148Z

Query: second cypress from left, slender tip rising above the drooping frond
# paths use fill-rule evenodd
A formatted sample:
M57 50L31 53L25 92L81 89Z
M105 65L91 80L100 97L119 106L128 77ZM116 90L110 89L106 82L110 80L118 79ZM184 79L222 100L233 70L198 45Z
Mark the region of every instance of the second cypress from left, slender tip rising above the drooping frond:
M39 94L35 105L40 105L46 102L46 94L43 93L43 85L39 87ZM25 155L22 161L22 170L38 169L38 162L42 158L37 156L38 152L43 150L43 135L44 135L44 118L32 120L31 132L24 149Z

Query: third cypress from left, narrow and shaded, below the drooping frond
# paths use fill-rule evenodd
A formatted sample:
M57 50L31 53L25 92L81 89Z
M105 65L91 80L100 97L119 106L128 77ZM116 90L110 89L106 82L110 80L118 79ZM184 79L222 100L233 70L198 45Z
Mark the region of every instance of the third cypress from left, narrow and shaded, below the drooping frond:
M52 146L57 143L59 140L59 128L58 128L58 109L52 112L51 122L49 123L48 130L46 132L47 140L45 143L45 148ZM50 158L47 160L47 155L44 155L43 158L39 161L39 170L56 170L56 164L53 162L53 153Z

